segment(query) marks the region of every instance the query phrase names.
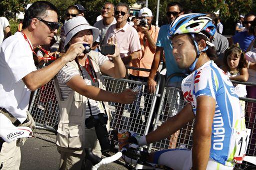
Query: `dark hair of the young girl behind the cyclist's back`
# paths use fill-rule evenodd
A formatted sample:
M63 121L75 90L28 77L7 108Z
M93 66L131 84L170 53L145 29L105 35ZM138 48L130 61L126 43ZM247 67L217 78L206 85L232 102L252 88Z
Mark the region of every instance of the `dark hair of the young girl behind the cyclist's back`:
M237 70L240 70L241 68L245 68L246 60L245 60L245 57L244 57L244 52L239 47L238 43L231 45L224 52L223 63L226 66L228 71L230 71L229 67L227 65L227 57L229 55L232 55L234 58L240 57L239 63L238 63L238 66L237 66Z

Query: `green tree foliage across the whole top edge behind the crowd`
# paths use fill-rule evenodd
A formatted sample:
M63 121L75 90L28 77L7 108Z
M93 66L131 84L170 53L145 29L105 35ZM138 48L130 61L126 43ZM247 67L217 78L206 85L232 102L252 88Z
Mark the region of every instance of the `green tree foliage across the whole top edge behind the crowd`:
M1 0L0 1L0 16L5 16L7 19L15 19L15 14L19 11L23 12L28 3L37 0ZM113 4L125 2L133 4L141 3L142 0L47 0L53 3L58 9L58 19L63 22L65 19L65 10L69 5L80 3L85 11L85 18L90 24L93 24L96 17L100 14L101 7L106 1ZM172 1L180 2L185 9L192 9L193 12L214 12L220 10L219 16L224 27L233 29L234 22L238 19L239 14L246 14L256 8L256 0L160 0L158 25L161 26L167 23L165 16L167 3ZM156 16L157 0L148 0L148 8L152 10ZM154 18L155 20L155 18ZM226 26L225 26L226 24ZM225 29L224 29L225 31Z

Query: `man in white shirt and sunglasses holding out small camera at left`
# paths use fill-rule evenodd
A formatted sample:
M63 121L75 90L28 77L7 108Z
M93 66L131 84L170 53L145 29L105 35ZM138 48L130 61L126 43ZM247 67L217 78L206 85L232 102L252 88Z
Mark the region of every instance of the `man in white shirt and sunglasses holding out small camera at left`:
M33 128L33 119L27 113L31 91L49 82L67 62L83 52L82 42L77 42L49 66L36 70L33 47L49 44L58 26L57 8L50 2L36 1L25 11L22 31L0 45L0 116L9 120L1 122L0 131L18 126ZM14 138L19 134L9 135ZM0 169L18 170L18 142L7 143L2 140L8 139L6 136L0 137Z

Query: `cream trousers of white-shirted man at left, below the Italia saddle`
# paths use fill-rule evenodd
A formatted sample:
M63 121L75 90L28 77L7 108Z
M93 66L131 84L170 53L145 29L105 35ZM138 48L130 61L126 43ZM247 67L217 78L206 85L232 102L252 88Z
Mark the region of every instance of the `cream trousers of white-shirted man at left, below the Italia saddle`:
M20 148L17 146L16 141L2 144L0 170L19 170L20 159Z

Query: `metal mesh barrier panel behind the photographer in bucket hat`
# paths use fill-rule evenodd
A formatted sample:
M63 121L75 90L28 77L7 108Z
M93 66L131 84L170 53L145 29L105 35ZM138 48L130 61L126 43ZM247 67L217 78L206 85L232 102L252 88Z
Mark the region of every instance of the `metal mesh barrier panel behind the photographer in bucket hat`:
M138 69L133 67L127 68ZM149 71L148 69L139 70ZM156 98L158 96L157 93L160 78L158 78L155 94L147 93L145 88L146 83L128 79L115 79L109 76L103 76L103 78L106 90L110 92L120 93L127 88L134 89L137 86L141 87L132 104L109 102L109 109L112 115L110 131L114 129L125 129L134 131L140 135L147 134ZM29 112L34 118L38 128L56 131L58 124L58 111L59 109L53 81L51 80L49 83L35 91L29 107Z

